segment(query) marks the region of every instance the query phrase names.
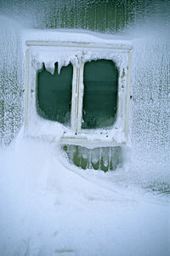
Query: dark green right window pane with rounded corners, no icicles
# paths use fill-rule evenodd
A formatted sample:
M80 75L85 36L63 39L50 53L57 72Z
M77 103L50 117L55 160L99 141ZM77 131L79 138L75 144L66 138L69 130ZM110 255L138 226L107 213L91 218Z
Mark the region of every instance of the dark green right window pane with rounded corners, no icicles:
M118 71L113 61L98 60L84 66L82 128L113 125L116 119Z

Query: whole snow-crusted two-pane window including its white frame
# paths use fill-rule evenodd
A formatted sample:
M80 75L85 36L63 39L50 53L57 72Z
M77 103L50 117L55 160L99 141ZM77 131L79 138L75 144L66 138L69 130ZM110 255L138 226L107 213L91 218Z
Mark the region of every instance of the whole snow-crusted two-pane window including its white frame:
M88 148L127 143L129 44L26 45L26 136Z

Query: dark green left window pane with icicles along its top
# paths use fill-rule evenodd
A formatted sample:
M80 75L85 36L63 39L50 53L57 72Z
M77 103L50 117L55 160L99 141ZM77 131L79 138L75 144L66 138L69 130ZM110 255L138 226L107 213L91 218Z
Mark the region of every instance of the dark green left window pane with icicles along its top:
M43 118L70 125L71 122L71 84L73 67L58 64L52 75L45 67L37 74L37 113Z

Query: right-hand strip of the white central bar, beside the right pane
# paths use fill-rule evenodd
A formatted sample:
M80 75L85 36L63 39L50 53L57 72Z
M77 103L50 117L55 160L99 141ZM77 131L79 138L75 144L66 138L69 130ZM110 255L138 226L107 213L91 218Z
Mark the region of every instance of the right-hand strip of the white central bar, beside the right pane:
M82 128L82 98L84 91L83 84L83 71L84 71L84 63L81 64L78 70L78 79L77 79L77 132L81 131Z

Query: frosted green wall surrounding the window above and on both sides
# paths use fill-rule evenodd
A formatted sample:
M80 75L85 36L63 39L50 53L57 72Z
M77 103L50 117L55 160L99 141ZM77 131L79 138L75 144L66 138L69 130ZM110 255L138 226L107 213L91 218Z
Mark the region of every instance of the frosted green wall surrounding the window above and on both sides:
M170 159L169 10L168 0L2 0L0 3L1 143L10 143L22 124L25 65L20 32L23 29L79 28L110 33L113 38L119 34L133 42L131 82L133 97L130 102L129 118L133 170L142 168L148 175L152 168L153 172L155 170L164 172L163 178L166 179Z

